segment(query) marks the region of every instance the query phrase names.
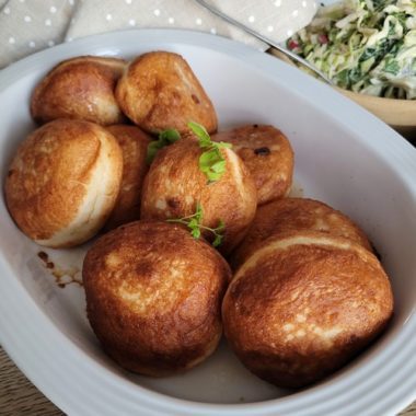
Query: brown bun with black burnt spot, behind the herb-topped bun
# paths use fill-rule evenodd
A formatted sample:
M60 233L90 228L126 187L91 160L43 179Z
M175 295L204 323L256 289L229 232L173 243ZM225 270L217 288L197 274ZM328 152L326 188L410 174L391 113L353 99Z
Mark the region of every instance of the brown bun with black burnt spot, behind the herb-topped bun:
M255 124L221 131L212 140L232 143L256 184L259 205L289 194L294 155L289 140L280 130Z

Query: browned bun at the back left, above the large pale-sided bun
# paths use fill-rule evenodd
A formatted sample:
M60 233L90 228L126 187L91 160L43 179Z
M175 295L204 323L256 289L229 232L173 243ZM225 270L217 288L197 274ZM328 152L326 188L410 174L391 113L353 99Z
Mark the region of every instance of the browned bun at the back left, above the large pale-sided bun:
M73 118L103 126L123 123L114 90L126 67L122 59L83 56L56 66L36 86L31 113L42 124Z

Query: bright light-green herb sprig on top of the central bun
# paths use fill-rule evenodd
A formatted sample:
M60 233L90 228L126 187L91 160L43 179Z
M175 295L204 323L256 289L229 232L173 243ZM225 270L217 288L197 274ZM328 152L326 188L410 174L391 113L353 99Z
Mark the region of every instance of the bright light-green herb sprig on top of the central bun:
M190 122L188 127L199 140L199 147L205 151L199 157L199 169L208 178L208 183L221 178L227 170L227 161L221 154L221 149L231 149L231 143L212 141L208 131L200 124Z

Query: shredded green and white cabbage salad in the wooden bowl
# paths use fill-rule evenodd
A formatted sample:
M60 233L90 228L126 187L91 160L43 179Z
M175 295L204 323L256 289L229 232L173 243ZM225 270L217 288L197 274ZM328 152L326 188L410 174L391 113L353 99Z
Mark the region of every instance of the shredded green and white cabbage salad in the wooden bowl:
M321 7L287 46L340 88L416 99L414 0L344 0Z

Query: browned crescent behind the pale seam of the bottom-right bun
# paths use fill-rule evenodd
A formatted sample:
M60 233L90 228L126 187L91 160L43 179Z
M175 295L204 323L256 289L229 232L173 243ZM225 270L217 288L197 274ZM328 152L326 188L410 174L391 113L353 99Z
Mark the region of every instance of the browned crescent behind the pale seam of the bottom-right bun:
M290 230L322 231L344 236L372 251L365 232L343 212L307 198L284 198L257 208L242 243L231 256L233 268L241 265L270 235Z

